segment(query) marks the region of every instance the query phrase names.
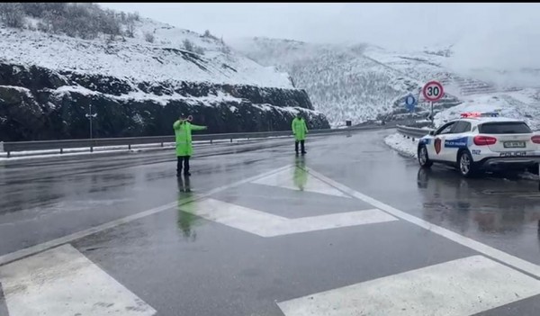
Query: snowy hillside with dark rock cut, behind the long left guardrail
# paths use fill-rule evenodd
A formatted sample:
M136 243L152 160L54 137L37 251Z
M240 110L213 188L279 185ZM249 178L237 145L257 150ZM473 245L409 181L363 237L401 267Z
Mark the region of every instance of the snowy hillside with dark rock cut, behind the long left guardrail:
M49 5L91 10L86 23L108 16L117 25L112 17L120 15L100 14L94 5ZM68 22L69 10L56 18ZM230 51L210 32L149 19L111 33L69 32L67 22L41 32L51 20L32 13L17 27L0 22L0 141L86 138L91 105L94 137L170 134L180 113L193 114L209 132L289 130L296 113L311 129L329 128L286 73Z

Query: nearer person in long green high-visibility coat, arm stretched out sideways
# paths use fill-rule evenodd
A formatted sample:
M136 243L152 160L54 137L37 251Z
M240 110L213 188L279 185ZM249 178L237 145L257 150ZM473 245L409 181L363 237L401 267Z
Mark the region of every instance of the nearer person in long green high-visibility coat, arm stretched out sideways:
M178 121L173 124L176 138L176 158L178 159L176 165L176 176L182 174L182 164L184 163L184 176L191 176L189 173L189 158L193 155L192 146L192 131L206 130L206 126L200 126L192 124L193 117L190 115L186 117L184 114L180 115Z

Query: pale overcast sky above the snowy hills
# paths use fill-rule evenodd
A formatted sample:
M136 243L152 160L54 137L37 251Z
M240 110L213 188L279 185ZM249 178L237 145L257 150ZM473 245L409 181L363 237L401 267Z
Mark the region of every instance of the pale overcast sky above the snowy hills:
M224 38L366 41L383 46L453 43L470 32L540 26L539 4L180 4L109 3L195 32Z

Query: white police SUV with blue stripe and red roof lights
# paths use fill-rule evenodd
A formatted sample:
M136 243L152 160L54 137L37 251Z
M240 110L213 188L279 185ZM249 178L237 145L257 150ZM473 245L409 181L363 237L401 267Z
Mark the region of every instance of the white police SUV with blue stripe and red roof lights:
M499 113L463 113L419 140L419 164L457 167L462 176L481 170L526 169L540 162L540 134Z

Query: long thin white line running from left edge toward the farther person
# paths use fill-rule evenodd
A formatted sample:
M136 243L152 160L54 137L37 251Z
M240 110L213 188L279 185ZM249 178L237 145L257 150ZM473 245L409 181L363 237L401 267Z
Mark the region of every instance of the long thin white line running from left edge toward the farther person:
M156 208L153 208L153 209L150 209L150 210L147 210L147 211L144 211L144 212L139 212L139 213L136 213L136 214L133 214L133 215L130 215L130 216L123 217L123 218L118 219L118 220L106 222L106 223L104 223L102 225L94 226L93 228L90 228L88 230L81 230L81 231L78 231L76 233L69 234L69 235L64 236L64 237L60 237L58 239L49 240L49 241L41 243L39 245L35 245L35 246L31 246L29 248L23 248L21 250L14 251L12 253L0 256L0 266L5 265L5 264L7 264L9 262L12 262L14 260L21 259L23 257L31 256L33 254L36 254L38 252L47 250L49 248L54 248L54 247L57 247L59 245L63 245L63 244L66 244L68 242L71 242L73 240L84 238L86 236L92 235L94 233L97 233L97 232L100 232L100 231L103 231L103 230L112 229L112 228L114 228L116 226L126 224L126 223L128 223L130 221L136 221L136 220L139 220L141 218L156 214L158 212L164 212L166 210L170 210L172 208L183 205L185 203L190 203L190 202L193 202L193 201L200 200L200 199L202 199L202 198L204 198L206 196L210 196L212 194L217 194L217 193L219 193L221 191L227 190L227 189L229 189L231 187L234 187L234 186L250 183L250 182L252 182L254 180L257 180L259 177L272 175L275 172L280 172L280 171L291 169L291 168L292 168L291 165L285 166L285 167L279 167L277 169L265 172L265 173L260 174L258 176L251 176L251 177L248 177L246 179L240 180L238 182L235 182L235 183L232 183L232 184L229 184L229 185L223 185L223 186L217 187L217 188L212 189L211 191L209 191L209 192L207 192L205 194L197 194L197 195L187 197L187 198L185 198L183 200L180 200L178 202L166 203L165 205L161 205L161 206L158 206Z

